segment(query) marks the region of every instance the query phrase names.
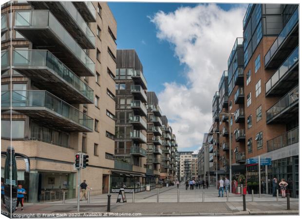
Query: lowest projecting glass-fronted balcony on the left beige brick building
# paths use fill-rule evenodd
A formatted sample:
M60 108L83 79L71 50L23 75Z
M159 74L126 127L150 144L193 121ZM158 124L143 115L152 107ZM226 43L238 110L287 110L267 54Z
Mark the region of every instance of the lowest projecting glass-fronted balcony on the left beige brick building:
M11 91L1 92L1 110L10 109ZM13 90L12 110L66 132L93 132L94 119L45 90Z

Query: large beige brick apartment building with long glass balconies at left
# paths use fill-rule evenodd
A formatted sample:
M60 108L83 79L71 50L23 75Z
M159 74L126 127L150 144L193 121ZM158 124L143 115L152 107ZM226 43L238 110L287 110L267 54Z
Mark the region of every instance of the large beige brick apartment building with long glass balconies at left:
M17 161L17 183L27 190L28 202L60 199L62 191L76 197L77 152L89 155L80 180L94 188L91 194L108 192L114 168L115 40L116 21L105 2L1 5L1 150L12 145L30 157L30 173Z

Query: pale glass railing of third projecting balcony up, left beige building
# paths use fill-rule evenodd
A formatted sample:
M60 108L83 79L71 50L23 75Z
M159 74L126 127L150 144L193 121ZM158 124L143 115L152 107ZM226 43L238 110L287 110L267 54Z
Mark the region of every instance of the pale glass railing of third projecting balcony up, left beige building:
M15 29L30 28L33 30L49 28L61 40L75 57L94 74L94 62L77 44L75 39L58 22L57 18L47 10L22 10L15 12Z

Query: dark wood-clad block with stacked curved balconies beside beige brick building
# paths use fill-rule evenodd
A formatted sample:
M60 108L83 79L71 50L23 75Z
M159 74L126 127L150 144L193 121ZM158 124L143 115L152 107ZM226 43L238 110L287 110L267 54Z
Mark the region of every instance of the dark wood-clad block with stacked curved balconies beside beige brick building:
M140 188L145 185L147 168L147 82L135 50L117 50L116 60L112 186Z

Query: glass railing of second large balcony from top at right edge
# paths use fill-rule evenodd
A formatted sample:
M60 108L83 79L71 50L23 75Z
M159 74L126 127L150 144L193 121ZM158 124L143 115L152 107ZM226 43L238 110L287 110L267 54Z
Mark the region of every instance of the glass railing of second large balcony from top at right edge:
M272 87L279 82L279 80L288 73L288 70L299 62L299 46L288 56L279 69L273 74L273 76L265 84L265 93L268 93Z

